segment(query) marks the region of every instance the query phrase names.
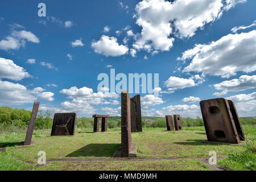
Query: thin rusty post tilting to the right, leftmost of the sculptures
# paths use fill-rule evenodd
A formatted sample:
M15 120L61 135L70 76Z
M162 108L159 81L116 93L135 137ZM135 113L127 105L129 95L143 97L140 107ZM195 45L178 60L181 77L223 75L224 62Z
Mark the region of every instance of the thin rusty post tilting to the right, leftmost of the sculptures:
M39 104L40 102L34 102L32 114L30 117L30 123L28 124L27 134L24 141L24 146L29 146L31 144L31 139L32 139L34 128L35 128L36 116L38 115Z

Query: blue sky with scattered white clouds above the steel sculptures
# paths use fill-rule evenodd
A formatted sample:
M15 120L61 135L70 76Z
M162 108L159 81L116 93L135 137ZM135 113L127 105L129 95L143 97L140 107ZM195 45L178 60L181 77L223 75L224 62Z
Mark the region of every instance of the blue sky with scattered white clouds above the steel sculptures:
M139 93L127 86L130 97L141 94L143 116L201 117L200 101L218 97L233 100L240 117L256 116L255 7L253 0L1 1L0 106L31 110L39 101L52 113L120 115L121 94L98 89L98 76L110 83L114 70L129 83L129 74L153 75L158 94L142 92L147 82Z

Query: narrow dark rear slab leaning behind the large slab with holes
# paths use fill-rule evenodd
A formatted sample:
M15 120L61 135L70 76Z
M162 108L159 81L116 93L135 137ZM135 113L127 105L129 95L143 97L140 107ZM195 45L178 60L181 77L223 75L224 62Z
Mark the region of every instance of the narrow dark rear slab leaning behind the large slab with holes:
M245 134L243 134L243 129L240 123L240 118L238 117L238 114L237 114L236 106L234 105L234 102L232 100L228 100L228 102L229 102L230 111L232 113L232 117L234 119L234 123L236 125L238 137L240 138L240 140L244 141Z

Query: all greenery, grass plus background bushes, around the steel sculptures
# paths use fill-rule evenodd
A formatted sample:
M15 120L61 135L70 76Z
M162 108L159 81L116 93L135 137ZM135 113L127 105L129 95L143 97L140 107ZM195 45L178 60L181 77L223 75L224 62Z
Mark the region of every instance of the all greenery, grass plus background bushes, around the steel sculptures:
M36 146L17 148L24 140L30 111L0 107L0 170L211 170L201 159L216 151L218 165L225 170L255 170L255 118L241 118L246 146L202 143L207 139L201 118L181 118L183 131L166 131L165 118L143 117L143 133L132 133L137 155L143 161L111 161L121 143L121 117L108 119L108 132L92 133L93 118L77 118L74 137L49 137L52 113L39 111L32 140ZM6 118L6 120L4 119ZM144 119L154 119L145 123ZM16 123L16 124L15 124ZM19 123L19 124L18 124ZM22 124L20 124L22 123ZM38 152L45 151L49 161L38 166ZM172 158L155 159L151 158ZM104 162L67 162L65 159L101 159ZM180 159L182 158L182 159Z

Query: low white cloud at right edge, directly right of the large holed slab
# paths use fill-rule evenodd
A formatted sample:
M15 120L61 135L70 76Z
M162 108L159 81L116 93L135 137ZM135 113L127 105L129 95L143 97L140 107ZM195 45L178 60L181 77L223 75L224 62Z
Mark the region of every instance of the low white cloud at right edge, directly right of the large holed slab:
M256 116L256 92L250 94L238 94L227 98L236 105L240 117Z

